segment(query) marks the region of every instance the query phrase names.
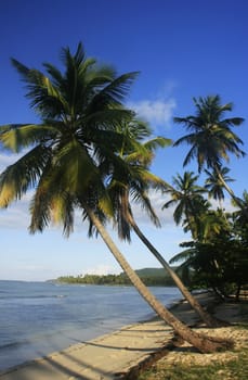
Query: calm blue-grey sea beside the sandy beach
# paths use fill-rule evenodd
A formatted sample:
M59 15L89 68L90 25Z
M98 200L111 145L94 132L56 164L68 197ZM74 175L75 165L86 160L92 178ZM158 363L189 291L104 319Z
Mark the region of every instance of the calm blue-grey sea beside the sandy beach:
M177 288L151 288L166 305ZM153 317L132 287L0 281L0 370Z

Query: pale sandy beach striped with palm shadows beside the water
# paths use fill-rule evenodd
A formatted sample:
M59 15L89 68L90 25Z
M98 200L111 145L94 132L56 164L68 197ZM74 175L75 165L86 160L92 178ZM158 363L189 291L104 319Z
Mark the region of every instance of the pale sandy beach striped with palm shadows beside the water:
M240 321L243 317L247 319L247 313L240 316L238 305L235 303L217 305L216 299L209 293L198 294L197 297L203 305L214 305L214 314L221 319L230 322ZM197 315L185 301L174 305L173 313L190 326L199 322ZM210 329L205 330L211 333ZM226 334L229 329L226 331L214 329L214 333ZM11 368L0 373L0 380L121 379L130 372L130 369L138 368L142 363L148 363L156 355L165 356L172 338L172 329L158 318L154 318L125 326L110 334L71 345L62 352ZM199 354L200 356L203 355ZM177 360L178 356L171 352L167 357L169 360Z

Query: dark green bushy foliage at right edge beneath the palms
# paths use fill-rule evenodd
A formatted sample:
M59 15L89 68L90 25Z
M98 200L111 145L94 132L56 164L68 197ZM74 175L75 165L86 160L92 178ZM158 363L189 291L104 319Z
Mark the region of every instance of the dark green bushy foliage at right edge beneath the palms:
M220 217L218 212L211 213ZM238 299L240 288L248 283L247 230L243 233L237 221L227 220L226 216L218 220L218 229L210 229L205 241L182 243L186 250L170 263L182 262L180 268L191 288L211 288L223 296L236 294Z

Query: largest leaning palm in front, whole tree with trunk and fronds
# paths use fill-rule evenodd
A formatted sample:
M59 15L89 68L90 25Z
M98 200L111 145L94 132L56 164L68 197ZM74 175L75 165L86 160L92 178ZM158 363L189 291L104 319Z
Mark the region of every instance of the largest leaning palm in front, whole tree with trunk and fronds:
M123 141L116 125L130 118L122 101L136 73L117 76L109 67L97 67L95 60L86 58L81 43L74 55L68 48L63 49L62 59L65 72L45 63L47 74L12 60L41 123L0 128L5 149L29 149L0 175L0 206L6 207L32 188L30 232L43 231L54 221L62 224L67 236L79 208L82 219L95 227L140 294L174 331L201 352L223 347L223 342L192 331L155 299L102 223L105 215L112 217L113 207L100 167L104 162L106 173L110 172L116 160L125 166L115 155Z

